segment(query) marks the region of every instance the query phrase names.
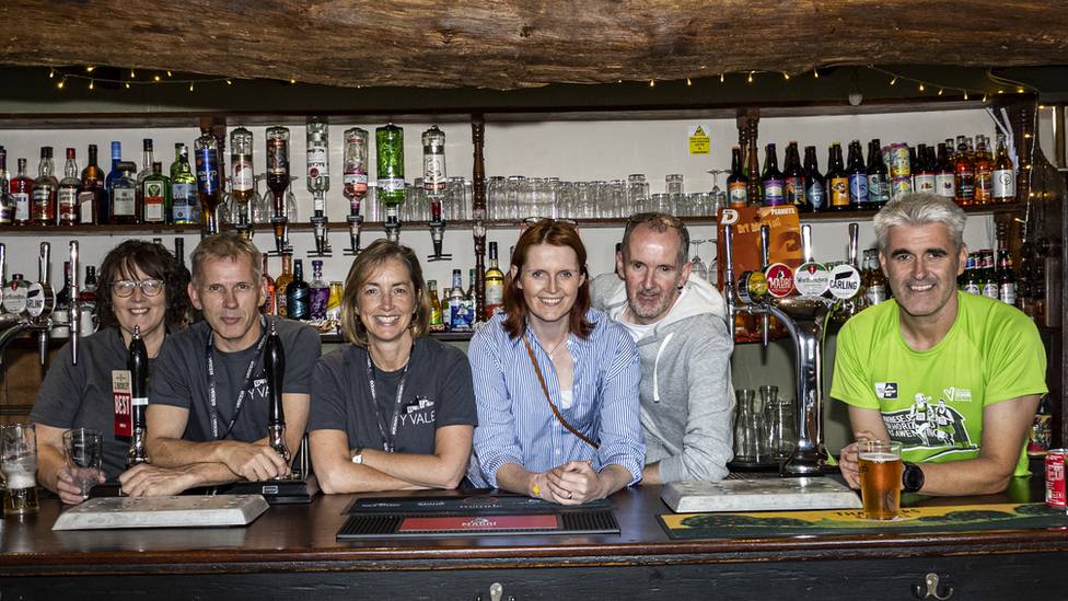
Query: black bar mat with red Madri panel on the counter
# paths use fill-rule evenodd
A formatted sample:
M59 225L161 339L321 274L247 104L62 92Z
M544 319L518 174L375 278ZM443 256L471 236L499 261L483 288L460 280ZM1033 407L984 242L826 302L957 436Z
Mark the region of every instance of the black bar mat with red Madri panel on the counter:
M365 497L345 513L338 541L619 533L607 499L571 507L518 495Z

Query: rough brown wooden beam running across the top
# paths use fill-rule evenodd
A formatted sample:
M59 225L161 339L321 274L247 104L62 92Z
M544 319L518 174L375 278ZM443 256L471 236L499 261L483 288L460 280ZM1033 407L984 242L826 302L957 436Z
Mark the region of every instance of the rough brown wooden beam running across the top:
M1058 0L5 0L0 63L338 86L1068 63Z

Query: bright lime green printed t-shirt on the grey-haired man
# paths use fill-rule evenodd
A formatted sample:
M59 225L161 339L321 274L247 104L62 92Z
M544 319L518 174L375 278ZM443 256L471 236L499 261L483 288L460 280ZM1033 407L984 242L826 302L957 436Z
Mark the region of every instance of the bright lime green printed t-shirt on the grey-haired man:
M882 412L905 461L978 456L986 405L1048 392L1034 323L1001 301L956 297L956 321L928 350L905 343L897 301L860 312L838 334L831 396ZM1014 475L1029 473L1024 444Z

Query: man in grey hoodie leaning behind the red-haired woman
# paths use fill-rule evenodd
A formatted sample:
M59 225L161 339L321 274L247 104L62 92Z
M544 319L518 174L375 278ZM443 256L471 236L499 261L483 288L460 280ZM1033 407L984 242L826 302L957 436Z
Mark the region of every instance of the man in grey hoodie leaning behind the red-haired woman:
M734 339L719 291L690 275L689 232L662 213L630 218L616 273L593 307L630 332L641 355L642 482L721 479L732 454ZM623 281L620 281L620 279Z

